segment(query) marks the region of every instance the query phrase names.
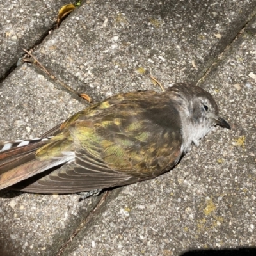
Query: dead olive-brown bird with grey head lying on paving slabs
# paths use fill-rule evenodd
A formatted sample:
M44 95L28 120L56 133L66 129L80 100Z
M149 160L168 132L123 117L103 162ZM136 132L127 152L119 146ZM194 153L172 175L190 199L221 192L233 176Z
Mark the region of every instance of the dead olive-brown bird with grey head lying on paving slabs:
M89 193L153 179L216 125L231 129L211 93L176 83L113 95L32 140L0 145L0 189Z

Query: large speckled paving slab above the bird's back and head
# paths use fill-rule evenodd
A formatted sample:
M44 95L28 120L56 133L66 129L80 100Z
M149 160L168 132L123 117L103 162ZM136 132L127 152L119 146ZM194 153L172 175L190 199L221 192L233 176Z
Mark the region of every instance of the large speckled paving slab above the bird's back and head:
M138 74L143 68L166 86L195 83L255 7L255 1L87 1L35 56L51 74L95 100L152 88Z

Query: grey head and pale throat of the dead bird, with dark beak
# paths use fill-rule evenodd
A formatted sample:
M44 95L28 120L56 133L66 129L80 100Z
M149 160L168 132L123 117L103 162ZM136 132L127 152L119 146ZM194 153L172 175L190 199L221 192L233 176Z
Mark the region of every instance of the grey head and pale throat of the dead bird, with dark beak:
M192 142L198 145L214 125L230 129L227 121L218 116L218 105L209 92L184 83L175 84L168 90L173 93L174 104L179 110L184 153L188 152Z

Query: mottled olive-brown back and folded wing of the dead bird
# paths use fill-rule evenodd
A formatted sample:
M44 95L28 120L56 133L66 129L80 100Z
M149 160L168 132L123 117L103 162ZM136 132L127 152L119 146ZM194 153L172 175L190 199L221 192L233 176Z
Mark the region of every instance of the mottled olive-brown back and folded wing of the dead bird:
M182 154L182 135L177 110L163 98L154 92L127 93L77 113L51 139L72 140L74 159L13 188L74 193L123 186L170 170ZM37 160L52 156L51 144L37 150Z

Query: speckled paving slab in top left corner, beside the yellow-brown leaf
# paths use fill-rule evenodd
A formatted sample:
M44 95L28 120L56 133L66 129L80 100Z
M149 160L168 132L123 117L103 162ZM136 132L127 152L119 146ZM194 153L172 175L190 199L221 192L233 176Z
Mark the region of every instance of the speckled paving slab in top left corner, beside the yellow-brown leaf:
M0 80L24 54L40 43L56 23L58 10L70 3L53 1L0 1Z

